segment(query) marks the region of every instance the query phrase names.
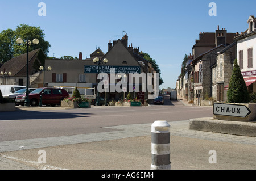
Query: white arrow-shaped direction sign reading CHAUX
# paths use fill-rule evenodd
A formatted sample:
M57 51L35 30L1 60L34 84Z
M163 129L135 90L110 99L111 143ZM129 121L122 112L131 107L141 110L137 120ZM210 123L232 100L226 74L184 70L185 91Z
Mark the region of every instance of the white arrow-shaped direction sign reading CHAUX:
M251 110L245 105L214 103L213 114L222 116L247 117Z

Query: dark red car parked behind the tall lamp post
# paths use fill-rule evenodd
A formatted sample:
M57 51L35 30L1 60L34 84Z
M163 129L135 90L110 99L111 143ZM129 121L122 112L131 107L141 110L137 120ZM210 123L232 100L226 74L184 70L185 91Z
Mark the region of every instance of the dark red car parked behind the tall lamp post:
M60 105L61 100L64 98L69 97L69 94L64 89L59 88L38 88L32 91L29 95L30 98L30 105L31 106L38 106L40 101L40 95L42 95L42 104L43 105ZM19 95L16 97L16 105L21 104L24 106L25 104L26 94Z

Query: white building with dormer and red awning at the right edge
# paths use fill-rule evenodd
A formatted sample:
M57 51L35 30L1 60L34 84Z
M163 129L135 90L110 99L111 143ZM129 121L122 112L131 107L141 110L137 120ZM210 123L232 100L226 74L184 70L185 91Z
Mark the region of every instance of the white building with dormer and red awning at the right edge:
M250 16L248 28L236 36L237 61L249 93L256 92L256 18ZM228 86L225 87L228 89Z

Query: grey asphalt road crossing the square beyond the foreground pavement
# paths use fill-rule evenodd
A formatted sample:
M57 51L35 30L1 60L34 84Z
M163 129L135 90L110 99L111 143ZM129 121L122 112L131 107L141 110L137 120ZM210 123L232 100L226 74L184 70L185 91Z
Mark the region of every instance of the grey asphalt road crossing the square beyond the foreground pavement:
M164 105L90 109L24 109L0 112L0 141L109 132L116 125L180 121L212 116L212 107L185 107L165 95Z

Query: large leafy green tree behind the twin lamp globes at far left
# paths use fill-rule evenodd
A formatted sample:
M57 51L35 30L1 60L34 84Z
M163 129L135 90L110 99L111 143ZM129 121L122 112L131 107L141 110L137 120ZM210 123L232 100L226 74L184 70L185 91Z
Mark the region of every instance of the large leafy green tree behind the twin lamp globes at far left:
M16 43L18 37L30 41L35 38L38 39L39 44L31 44L28 51L40 48L47 56L51 45L48 41L44 40L44 36L43 30L40 27L29 26L27 24L20 24L16 27L16 30L3 30L0 33L0 62L4 63L13 57L27 53L26 46L19 46Z

